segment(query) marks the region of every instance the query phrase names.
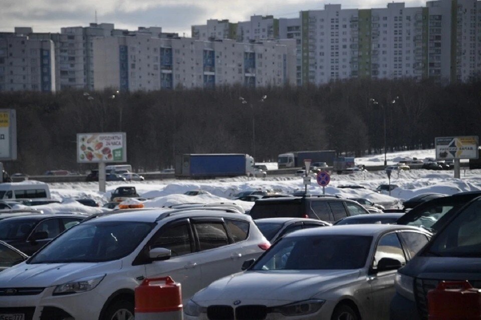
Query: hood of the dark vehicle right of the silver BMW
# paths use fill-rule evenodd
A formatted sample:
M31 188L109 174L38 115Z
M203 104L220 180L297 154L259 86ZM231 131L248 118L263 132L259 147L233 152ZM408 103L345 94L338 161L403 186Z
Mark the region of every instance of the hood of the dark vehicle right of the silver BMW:
M415 256L400 272L435 280L481 280L481 258Z

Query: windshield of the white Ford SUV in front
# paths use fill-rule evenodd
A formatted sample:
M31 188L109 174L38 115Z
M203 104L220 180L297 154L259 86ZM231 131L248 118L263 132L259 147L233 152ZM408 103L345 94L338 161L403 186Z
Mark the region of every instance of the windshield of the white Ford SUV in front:
M133 221L81 223L50 242L29 263L117 260L130 254L154 225Z

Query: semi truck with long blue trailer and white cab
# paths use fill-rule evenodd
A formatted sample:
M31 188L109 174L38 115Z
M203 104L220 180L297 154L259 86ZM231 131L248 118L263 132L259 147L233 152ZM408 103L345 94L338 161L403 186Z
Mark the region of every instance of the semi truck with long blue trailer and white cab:
M254 158L242 153L188 153L175 159L179 178L254 176Z

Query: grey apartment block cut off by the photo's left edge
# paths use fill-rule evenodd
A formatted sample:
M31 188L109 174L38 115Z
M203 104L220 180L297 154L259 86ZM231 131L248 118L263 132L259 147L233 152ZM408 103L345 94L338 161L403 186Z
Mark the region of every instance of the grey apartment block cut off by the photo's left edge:
M55 46L30 39L31 28L0 33L0 91L55 91Z

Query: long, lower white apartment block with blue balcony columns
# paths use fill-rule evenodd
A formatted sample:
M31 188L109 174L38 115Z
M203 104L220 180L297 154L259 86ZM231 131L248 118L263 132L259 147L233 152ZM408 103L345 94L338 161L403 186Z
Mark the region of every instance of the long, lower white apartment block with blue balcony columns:
M243 44L234 40L161 39L136 34L97 38L95 90L251 87L296 83L293 40Z

